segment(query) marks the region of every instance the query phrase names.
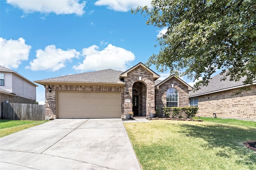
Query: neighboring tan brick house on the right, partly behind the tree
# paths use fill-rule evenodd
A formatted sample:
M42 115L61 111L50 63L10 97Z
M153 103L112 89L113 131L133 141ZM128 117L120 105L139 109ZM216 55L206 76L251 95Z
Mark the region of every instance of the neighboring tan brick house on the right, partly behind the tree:
M190 106L198 106L198 116L220 118L237 118L256 120L256 80L252 85L248 85L249 91L234 95L241 87L240 81L229 81L229 76L225 81L220 81L223 75L216 75L210 79L208 86L201 87L200 90L189 92Z

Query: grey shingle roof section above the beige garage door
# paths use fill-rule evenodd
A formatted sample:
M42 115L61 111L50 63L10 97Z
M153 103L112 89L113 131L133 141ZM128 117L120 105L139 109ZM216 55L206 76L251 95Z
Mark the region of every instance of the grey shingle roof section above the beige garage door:
M105 83L117 83L121 82L119 75L122 71L106 69L93 72L85 72L80 74L71 74L67 76L60 76L54 78L47 78L38 81L63 81L63 82L105 82Z

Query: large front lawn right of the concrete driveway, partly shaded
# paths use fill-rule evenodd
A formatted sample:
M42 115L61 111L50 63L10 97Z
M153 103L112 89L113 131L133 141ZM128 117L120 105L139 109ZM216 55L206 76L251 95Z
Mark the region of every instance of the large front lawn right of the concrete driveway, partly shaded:
M256 128L211 122L124 123L143 170L253 170Z

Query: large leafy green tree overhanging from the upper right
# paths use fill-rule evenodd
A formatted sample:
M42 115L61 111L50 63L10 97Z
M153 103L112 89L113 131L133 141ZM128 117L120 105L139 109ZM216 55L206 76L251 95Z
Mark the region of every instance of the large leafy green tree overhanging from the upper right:
M152 0L151 5L132 10L148 16L147 25L167 28L147 66L202 77L195 89L207 85L216 69L225 72L223 80L256 80L256 0Z

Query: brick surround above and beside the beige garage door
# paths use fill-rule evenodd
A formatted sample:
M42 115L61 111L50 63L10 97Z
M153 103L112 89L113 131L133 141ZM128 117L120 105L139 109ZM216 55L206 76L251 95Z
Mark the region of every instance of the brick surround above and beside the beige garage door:
M66 85L49 85L52 92L45 90L45 119L52 117L56 119L56 92L58 91L78 91L78 92L122 92L124 87L120 86L66 86ZM46 85L48 87L48 85ZM121 94L121 96L122 96ZM122 114L123 114L122 106Z

